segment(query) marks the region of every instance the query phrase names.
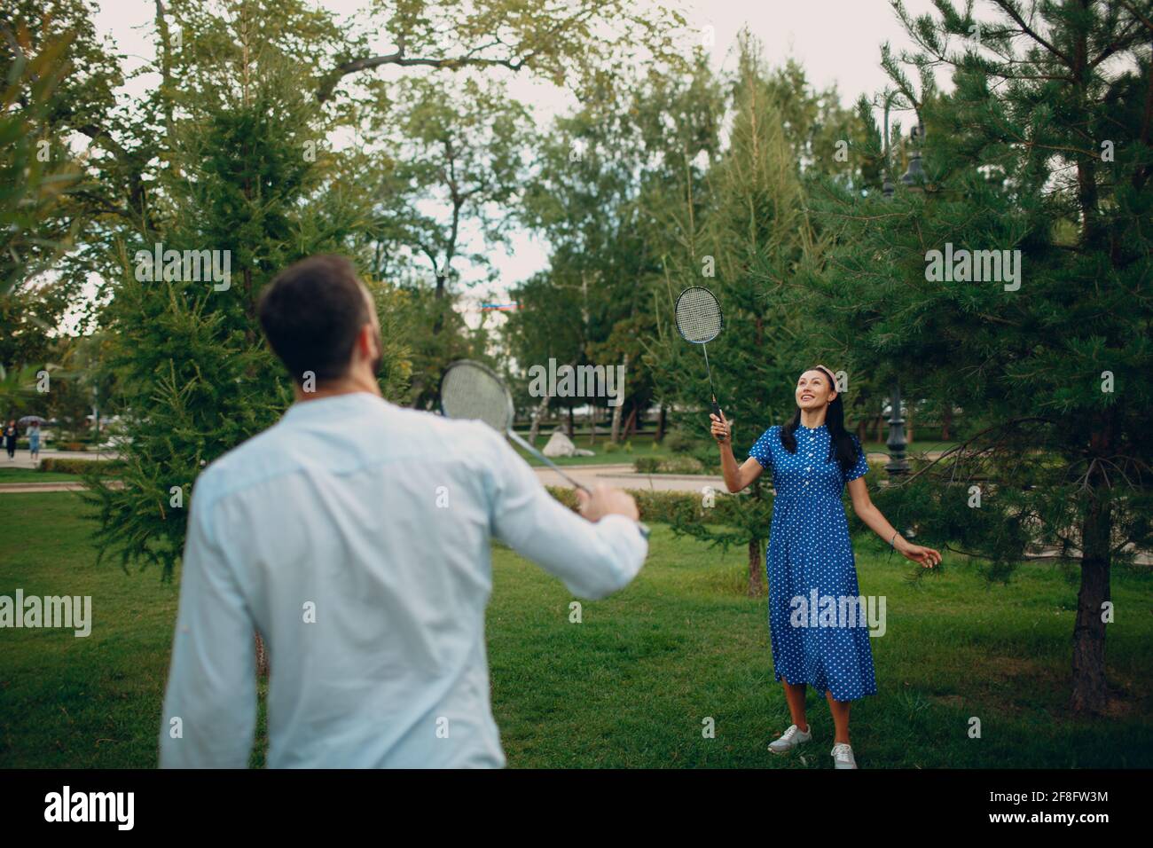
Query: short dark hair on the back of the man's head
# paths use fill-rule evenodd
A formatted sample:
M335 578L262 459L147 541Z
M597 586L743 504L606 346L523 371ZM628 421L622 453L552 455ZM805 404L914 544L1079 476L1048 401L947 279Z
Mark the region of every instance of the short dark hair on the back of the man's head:
M348 373L361 328L370 320L356 269L345 256L309 256L278 273L261 292L261 328L297 383Z

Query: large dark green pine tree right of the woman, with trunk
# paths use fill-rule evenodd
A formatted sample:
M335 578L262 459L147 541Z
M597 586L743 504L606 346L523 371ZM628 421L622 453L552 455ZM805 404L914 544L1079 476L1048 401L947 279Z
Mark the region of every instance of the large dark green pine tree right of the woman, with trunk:
M1109 572L1151 542L1153 17L1124 0L995 6L914 20L895 3L919 48L883 65L925 127L925 180L891 201L814 192L835 245L799 282L851 339L851 374L899 377L975 430L881 493L890 520L987 558L990 579L1042 546L1080 554L1070 706L1099 713ZM883 158L882 135L860 153Z

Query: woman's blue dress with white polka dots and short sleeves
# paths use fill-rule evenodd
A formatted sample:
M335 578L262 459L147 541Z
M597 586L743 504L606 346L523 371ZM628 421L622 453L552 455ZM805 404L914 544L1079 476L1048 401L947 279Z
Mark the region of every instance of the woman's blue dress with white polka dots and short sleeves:
M849 542L849 520L841 500L850 480L868 472L860 441L850 434L857 448L857 464L846 474L836 459L829 459L829 429L826 425L797 426L797 452L781 443L781 426L767 429L749 451L773 472L773 525L766 570L769 578L769 636L776 680L807 683L836 700L856 700L876 695L873 648L868 629L839 618L812 626L808 615L794 614L804 598L812 607L816 598L831 595L858 598L857 566ZM820 611L821 607L817 607ZM804 621L805 626L797 624Z

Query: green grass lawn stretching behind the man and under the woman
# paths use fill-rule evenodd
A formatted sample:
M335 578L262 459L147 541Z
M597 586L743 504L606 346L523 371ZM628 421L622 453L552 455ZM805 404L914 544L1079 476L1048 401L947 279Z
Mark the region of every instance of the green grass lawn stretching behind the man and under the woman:
M0 594L90 594L95 618L88 638L0 630L0 767L156 765L176 587L156 571L98 568L82 509L71 493L0 496ZM856 549L861 592L884 595L888 611L872 640L879 693L853 706L862 768L1153 766L1148 570L1113 575L1114 714L1071 721L1077 586L1061 568L1028 564L987 588L974 564L947 555L943 573L913 584L914 566L880 542ZM638 580L586 602L579 624L573 599L534 565L496 546L493 568L492 703L510 766L831 767L829 711L812 691L805 758L764 750L790 722L743 551L657 525ZM706 718L715 738L702 737Z

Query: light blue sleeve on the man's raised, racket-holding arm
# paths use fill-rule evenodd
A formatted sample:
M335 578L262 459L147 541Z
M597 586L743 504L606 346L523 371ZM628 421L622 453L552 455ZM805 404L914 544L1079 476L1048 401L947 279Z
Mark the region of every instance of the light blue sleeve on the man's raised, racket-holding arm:
M488 429L492 448L492 534L559 578L578 598L600 600L627 586L648 555L636 521L605 516L593 523L548 493L504 437Z

